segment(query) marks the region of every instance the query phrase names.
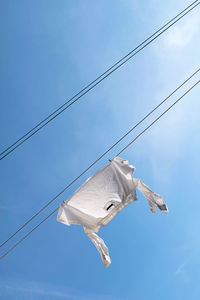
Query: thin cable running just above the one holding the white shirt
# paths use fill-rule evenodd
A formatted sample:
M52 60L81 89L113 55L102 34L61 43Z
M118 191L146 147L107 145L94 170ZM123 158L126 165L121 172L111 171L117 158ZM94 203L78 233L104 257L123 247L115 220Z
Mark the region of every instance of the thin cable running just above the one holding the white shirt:
M155 106L148 114L146 114L136 125L134 125L127 133L125 133L117 142L115 142L110 148L108 148L99 158L97 158L89 167L87 167L79 176L77 176L70 184L68 184L59 194L57 194L52 200L45 204L37 213L35 213L27 222L25 222L14 234L12 234L0 248L4 246L9 240L11 240L19 231L21 231L26 225L28 225L35 217L37 217L45 208L47 208L52 202L54 202L64 191L66 191L73 183L75 183L82 175L84 175L92 166L94 166L101 158L103 158L110 150L112 150L117 144L119 144L126 136L128 136L137 126L139 126L145 119L147 119L155 110L157 110L164 102L166 102L174 93L176 93L184 84L186 84L193 76L200 71L198 68L192 75L190 75L184 82L181 83L172 93L170 93L163 101ZM184 94L185 95L185 94ZM181 99L181 98L180 98ZM179 99L179 100L180 100ZM168 109L169 110L169 109ZM155 121L152 123L152 125ZM149 128L149 127L148 127ZM146 129L147 130L147 129ZM145 131L146 131L145 130ZM141 135L141 134L140 134ZM140 136L139 135L139 136ZM138 137L139 137L138 136ZM137 137L137 138L138 138ZM137 139L136 138L136 139ZM124 149L125 150L125 149ZM123 150L122 150L123 151ZM121 152L122 152L121 151ZM120 153L121 153L120 152ZM118 155L120 154L118 153ZM117 156L118 156L117 155Z

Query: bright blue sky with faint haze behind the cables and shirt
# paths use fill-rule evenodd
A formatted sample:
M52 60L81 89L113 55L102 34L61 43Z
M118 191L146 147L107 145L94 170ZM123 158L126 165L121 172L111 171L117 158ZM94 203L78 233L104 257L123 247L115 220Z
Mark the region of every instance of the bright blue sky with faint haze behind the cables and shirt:
M1 149L189 3L1 1ZM1 241L199 68L199 20L198 8L1 161ZM199 299L199 91L122 155L136 166L135 176L163 196L170 213L152 214L138 192L139 201L99 232L112 259L107 269L81 227L51 217L0 262L1 299Z

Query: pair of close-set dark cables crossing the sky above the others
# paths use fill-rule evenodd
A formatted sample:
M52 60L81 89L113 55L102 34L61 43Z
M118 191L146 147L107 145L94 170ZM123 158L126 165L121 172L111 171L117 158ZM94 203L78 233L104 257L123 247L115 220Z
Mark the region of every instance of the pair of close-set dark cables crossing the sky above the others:
M195 4L196 3L196 4ZM194 5L195 4L195 5ZM22 145L25 141L31 138L34 134L36 134L40 129L54 120L57 116L59 116L62 112L64 112L67 108L69 108L72 104L82 98L85 94L87 94L91 89L101 83L104 79L110 76L114 71L119 69L122 65L124 65L127 61L129 61L132 57L134 57L137 53L147 47L150 43L152 43L155 39L157 39L160 35L162 35L166 30L168 30L171 26L177 23L180 19L182 19L185 15L187 15L190 11L192 11L195 7L200 4L199 0L194 1L188 7L186 7L183 11L181 11L178 15L168 21L165 25L163 25L160 29L158 29L155 33L149 36L145 41L139 44L136 48L130 51L127 55L125 55L122 59L116 62L113 66L107 69L104 73L98 76L94 81L88 84L85 88L83 88L80 92L78 92L75 96L65 102L62 106L56 109L53 113L47 116L44 120L38 123L35 127L33 127L30 131L24 134L21 138L19 138L16 142L14 142L11 146L5 149L0 153L0 160L5 158L11 152L13 152L16 148ZM178 18L178 19L177 19ZM176 20L175 20L176 19ZM175 21L174 21L175 20ZM174 22L173 22L174 21ZM173 22L173 23L171 23ZM171 23L171 24L170 24ZM170 25L169 25L170 24ZM167 26L169 25L169 26ZM167 27L166 27L167 26ZM166 28L165 28L166 27ZM164 29L165 28L165 29ZM163 29L163 30L162 30ZM161 31L162 30L162 31ZM161 32L160 32L161 31ZM160 33L158 33L160 32ZM158 33L158 34L157 34ZM143 46L142 46L143 45ZM142 46L142 47L141 47ZM141 47L141 48L140 48ZM140 49L139 49L140 48ZM138 50L137 50L138 49ZM136 51L137 50L137 51ZM136 51L136 52L135 52ZM135 52L135 53L133 53ZM123 61L124 60L124 61ZM104 76L105 75L105 76ZM73 101L72 101L73 100ZM67 106L66 106L67 105ZM65 107L66 106L66 107ZM44 123L44 124L43 124ZM41 125L41 126L40 126ZM35 130L36 129L36 130ZM20 142L21 141L21 142ZM20 142L20 143L19 143ZM15 146L16 145L16 146ZM14 147L15 146L15 147ZM12 148L12 149L11 149ZM9 150L9 151L8 151ZM4 154L4 155L3 155Z

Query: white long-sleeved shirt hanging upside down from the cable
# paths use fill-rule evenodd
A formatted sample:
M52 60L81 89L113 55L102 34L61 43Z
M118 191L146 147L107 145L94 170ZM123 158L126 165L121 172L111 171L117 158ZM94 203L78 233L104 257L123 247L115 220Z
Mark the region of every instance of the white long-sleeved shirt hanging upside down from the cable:
M136 187L146 197L152 212L158 207L168 212L162 197L133 178L135 167L127 160L115 157L96 172L59 208L57 220L65 225L77 224L98 249L104 265L111 263L108 248L94 232L106 225L129 203L137 200Z

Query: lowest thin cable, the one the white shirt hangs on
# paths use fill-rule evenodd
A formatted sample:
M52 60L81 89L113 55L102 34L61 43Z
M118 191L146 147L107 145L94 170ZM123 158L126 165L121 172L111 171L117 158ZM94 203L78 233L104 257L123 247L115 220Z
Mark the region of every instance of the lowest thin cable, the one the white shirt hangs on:
M130 145L132 145L145 131L147 131L153 124L155 124L164 114L166 114L174 105L176 105L184 96L186 96L197 84L199 84L200 80L198 80L192 87L190 87L182 96L180 96L172 105L170 105L159 117L157 117L150 125L148 125L141 133L139 133L130 143L128 143L116 156L120 155L123 151L125 151ZM38 225L36 225L31 231L29 231L22 239L20 239L13 247L8 249L1 257L0 260L3 259L6 255L8 255L12 250L14 250L21 242L25 240L33 231L35 231L42 223L44 223L48 218L50 218L57 210L59 206L56 207L45 219L43 219Z

